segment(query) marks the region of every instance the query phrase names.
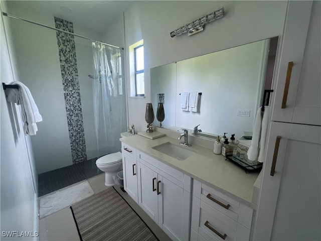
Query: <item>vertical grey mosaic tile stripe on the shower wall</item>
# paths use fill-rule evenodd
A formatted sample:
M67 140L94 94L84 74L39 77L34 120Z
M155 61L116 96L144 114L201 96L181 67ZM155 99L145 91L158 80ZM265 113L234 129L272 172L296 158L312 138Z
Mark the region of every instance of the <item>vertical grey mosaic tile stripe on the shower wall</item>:
M73 24L55 17L57 29L73 33ZM73 35L56 32L60 69L64 88L67 122L73 164L87 160L84 125L80 101L80 89Z

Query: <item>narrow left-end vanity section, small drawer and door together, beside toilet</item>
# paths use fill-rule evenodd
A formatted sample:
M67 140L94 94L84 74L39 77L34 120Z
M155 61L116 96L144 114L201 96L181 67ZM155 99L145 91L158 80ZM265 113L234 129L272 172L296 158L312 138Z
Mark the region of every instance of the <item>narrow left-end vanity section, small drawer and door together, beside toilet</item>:
M136 149L121 143L124 189L138 203Z

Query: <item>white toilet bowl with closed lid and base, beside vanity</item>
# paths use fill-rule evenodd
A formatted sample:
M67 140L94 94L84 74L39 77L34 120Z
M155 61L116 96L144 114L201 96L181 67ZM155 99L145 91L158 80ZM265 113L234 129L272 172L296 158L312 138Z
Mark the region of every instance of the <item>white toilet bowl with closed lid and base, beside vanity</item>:
M111 153L100 157L96 161L97 167L105 172L105 186L114 186L113 176L122 170L122 156L120 152Z

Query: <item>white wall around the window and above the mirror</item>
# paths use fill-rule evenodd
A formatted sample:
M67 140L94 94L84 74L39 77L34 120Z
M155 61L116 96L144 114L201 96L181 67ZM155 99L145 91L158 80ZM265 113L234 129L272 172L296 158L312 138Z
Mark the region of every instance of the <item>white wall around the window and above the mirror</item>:
M279 36L286 6L286 1L135 2L125 11L125 50L128 56L128 47L144 40L145 98L128 98L129 123L137 131L146 128L145 104L152 98L150 68ZM225 17L206 25L203 32L170 37L173 30L221 7L226 11ZM126 66L129 76L128 58Z

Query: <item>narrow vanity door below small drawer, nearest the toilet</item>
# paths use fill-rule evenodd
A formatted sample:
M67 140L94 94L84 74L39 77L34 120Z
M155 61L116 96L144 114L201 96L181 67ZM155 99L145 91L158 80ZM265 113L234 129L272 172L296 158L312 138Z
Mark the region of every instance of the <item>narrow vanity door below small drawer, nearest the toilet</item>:
M123 154L124 189L138 203L137 162L133 156Z

